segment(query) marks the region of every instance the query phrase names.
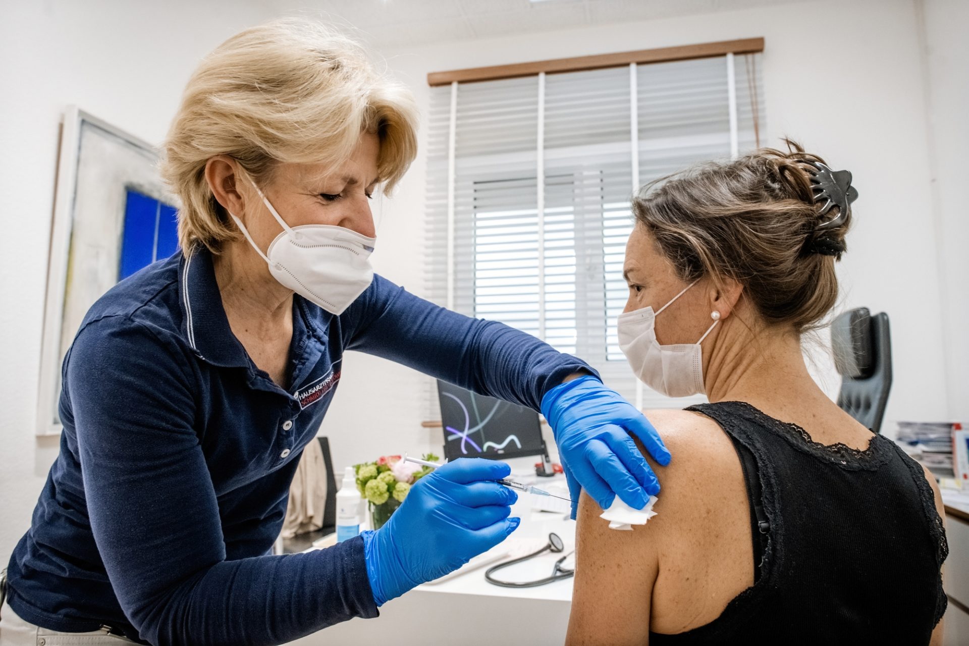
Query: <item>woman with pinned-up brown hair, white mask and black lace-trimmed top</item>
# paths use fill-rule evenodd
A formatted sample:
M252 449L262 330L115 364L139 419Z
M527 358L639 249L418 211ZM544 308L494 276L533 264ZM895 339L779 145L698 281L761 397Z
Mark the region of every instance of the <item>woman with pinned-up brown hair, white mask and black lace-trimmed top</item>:
M570 644L941 640L935 481L831 402L801 352L835 303L858 194L789 148L633 201L620 345L647 385L710 403L647 413L677 456L647 524L612 531L583 496Z

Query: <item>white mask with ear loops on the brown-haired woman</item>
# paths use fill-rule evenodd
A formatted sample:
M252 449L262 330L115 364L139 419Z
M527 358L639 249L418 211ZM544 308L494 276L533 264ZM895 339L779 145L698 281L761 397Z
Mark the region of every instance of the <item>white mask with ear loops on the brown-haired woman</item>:
M686 290L696 285L691 283ZM686 293L677 293L672 300L653 313L653 308L643 307L620 314L616 323L619 348L633 368L633 372L645 385L668 397L687 397L705 392L703 387L703 349L700 344L717 324L719 312L710 316L710 325L697 343L678 343L661 346L656 340L656 317L670 307L672 302Z

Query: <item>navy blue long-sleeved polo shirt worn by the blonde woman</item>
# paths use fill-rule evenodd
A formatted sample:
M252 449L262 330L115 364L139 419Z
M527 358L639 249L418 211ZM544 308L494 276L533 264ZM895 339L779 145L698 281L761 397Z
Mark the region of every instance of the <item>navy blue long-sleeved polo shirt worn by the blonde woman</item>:
M9 566L20 617L54 631L108 624L152 644L278 644L375 617L361 538L268 554L344 352L535 410L590 370L379 276L339 317L294 301L289 390L235 339L204 250L95 303L64 361L60 453Z

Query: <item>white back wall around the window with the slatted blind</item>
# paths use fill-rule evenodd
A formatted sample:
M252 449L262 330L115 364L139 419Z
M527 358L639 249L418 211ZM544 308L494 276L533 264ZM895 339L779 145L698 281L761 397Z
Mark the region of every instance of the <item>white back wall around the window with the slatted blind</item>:
M784 135L796 138L835 168L851 169L860 190L850 250L839 267L839 307L867 306L891 316L895 376L886 414L891 433L894 420L950 415L916 10L909 0L829 0L383 53L395 75L417 93L426 114L428 72L765 37L765 143L779 145ZM836 19L821 26L818 16L824 15ZM959 23L950 24L955 38ZM406 220L407 227L423 217L425 150L422 145L404 182L407 199L388 210L389 220ZM403 269L404 262L417 278L420 258L394 257L394 268ZM830 358L822 353L814 359L828 392L836 392L840 381ZM346 390L356 387L345 381ZM420 396L419 385L407 387ZM354 399L334 403L330 420L345 415L349 422ZM432 436L438 442L436 433Z

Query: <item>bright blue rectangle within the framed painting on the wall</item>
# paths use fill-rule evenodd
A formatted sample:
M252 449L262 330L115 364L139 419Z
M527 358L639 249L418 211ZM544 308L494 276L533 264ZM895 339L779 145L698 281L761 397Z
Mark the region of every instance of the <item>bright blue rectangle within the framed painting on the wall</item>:
M127 278L154 261L168 258L177 248L174 206L129 188L121 233L118 280Z

